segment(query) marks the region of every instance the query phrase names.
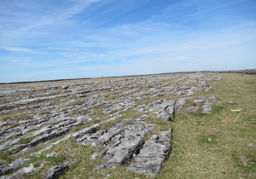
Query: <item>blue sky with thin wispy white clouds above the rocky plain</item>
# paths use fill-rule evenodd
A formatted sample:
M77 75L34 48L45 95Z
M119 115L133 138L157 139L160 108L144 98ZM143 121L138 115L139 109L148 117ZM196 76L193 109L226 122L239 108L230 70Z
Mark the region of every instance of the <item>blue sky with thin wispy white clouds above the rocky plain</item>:
M255 0L0 0L0 82L256 68Z

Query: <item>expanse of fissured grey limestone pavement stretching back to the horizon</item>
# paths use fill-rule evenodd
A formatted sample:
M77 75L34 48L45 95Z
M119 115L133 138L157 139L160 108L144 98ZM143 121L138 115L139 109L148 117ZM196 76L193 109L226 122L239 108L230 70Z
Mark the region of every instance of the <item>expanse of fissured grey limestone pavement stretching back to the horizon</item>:
M211 113L218 94L198 94L211 90L212 80L221 77L198 72L1 84L0 154L13 162L0 161L0 178L35 172L29 157L70 138L76 145L103 148L91 156L104 161L95 170L129 162L128 170L154 176L172 151L172 128L150 136L157 124L148 119L172 123L176 111ZM67 166L53 166L45 176L59 176L55 169L62 173Z

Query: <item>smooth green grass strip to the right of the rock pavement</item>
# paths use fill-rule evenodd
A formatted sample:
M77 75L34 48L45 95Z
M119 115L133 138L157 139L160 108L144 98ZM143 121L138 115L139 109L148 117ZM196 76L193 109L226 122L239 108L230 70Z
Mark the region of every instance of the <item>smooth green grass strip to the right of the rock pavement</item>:
M155 178L256 178L256 77L222 77L199 94L218 95L212 113L177 113L172 154Z

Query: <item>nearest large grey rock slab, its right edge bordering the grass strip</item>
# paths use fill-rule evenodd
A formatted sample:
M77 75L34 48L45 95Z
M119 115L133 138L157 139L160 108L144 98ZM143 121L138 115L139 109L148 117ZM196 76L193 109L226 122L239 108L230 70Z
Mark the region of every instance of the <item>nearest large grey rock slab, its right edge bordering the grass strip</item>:
M158 136L152 136L143 145L134 163L128 166L128 170L147 176L158 174L162 163L169 158L172 151L171 140L172 129L160 132Z

